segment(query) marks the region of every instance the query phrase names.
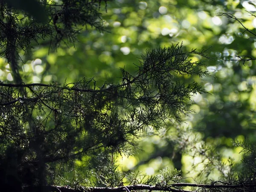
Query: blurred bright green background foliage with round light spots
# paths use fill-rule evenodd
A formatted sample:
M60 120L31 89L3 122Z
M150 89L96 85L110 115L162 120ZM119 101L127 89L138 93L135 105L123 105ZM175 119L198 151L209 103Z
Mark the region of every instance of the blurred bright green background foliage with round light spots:
M23 81L68 84L94 77L101 87L105 81L117 83L120 80L116 78L122 75L120 67L133 74L134 64L138 64L138 58L146 49L169 47L179 42L183 42L188 52L192 48L204 50L211 47L207 53L214 59L207 61L207 70L215 78L177 77L189 83L197 81L210 93L192 97L189 107L196 113L184 116L181 125L170 123L167 130L146 130L139 138L139 148L143 151L135 150L129 157L120 155L115 166L120 164L119 169L127 172L141 170L148 175L156 174L166 166L171 170L181 169L183 177L198 175L218 179L221 174L227 175L226 165L232 162L229 157L233 157L236 165L241 161L239 152L242 148L234 148L232 143L243 142L246 137L255 143L256 67L254 61L243 64L222 59L233 59L235 55L256 57L256 44L250 38L252 34L244 32L239 22L221 16L221 13L233 14L247 29L254 31L256 18L248 12L254 13L256 5L250 0L115 0L106 5L107 12L105 6L100 8L104 28L100 25L93 28L90 22L88 26L82 26L85 20L90 20L82 20L78 15L81 23L77 29L81 31L77 39L72 36L74 31L67 33L69 23L66 26L60 24L65 20L65 14L53 10L52 25L48 27L59 27L63 31L56 30L56 42L49 37L44 40L39 37L38 43L31 41L33 49L29 52L26 52L28 49L18 50ZM91 15L92 18L98 16ZM63 34L67 34L67 38ZM64 42L60 43L61 40ZM51 45L52 49L49 48ZM195 55L192 59L197 61L202 57ZM0 80L13 82L4 57L0 58ZM202 148L206 150L202 151ZM216 153L221 156L213 156ZM76 166L82 167L86 161L84 157L76 162ZM207 172L205 165L215 171L209 169L211 172ZM67 177L71 177L71 173ZM186 180L192 181L191 178Z

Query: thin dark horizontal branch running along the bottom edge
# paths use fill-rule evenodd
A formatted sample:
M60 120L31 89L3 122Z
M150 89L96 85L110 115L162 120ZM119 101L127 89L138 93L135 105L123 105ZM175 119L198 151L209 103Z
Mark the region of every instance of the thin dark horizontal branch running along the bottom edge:
M120 187L81 187L81 189L72 189L70 187L62 186L44 186L45 191L54 192L131 192L138 190L148 190L148 191L168 191L168 192L194 192L187 191L183 189L178 189L178 187L199 187L199 188L232 188L232 189L244 189L248 187L256 187L256 184L243 184L243 185L215 185L215 184L196 184L196 183L174 183L168 186L150 186L150 185L130 185L130 186L120 186ZM24 187L24 192L29 192L30 190L39 192L41 187L38 186L26 186Z

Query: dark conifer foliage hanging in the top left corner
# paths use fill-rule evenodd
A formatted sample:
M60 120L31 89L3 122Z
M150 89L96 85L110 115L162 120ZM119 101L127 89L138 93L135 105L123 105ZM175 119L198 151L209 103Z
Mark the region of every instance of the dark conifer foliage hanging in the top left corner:
M104 0L105 3L107 1ZM21 58L17 54L19 49L27 53L33 48L32 43L38 44L41 40L49 41L49 47L52 47L52 44L58 47L61 41L75 43L76 35L88 25L103 31L99 13L102 0L64 0L58 3L55 1L40 3L33 0L6 2L0 3L0 48L3 49L1 56L5 56L10 64L17 84L22 83L18 65L18 60ZM31 9L32 5L34 5L33 9ZM44 12L41 12L43 18L41 18L35 10L39 12L43 7ZM25 12L22 13L17 9ZM38 19L44 22L40 23Z

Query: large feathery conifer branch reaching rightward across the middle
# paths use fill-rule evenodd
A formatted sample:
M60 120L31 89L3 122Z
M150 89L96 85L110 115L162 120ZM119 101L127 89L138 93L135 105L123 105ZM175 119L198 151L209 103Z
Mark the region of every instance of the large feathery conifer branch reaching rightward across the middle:
M37 171L33 169L41 159L49 172L56 163L68 166L84 155L96 156L93 161L98 166L107 163L103 167L108 169L108 153L130 154L131 146L136 146L134 138L148 126L159 130L168 121L181 121L181 115L189 112L186 102L190 94L202 91L197 83L175 79L181 73L207 75L197 68L202 63L187 60L189 54L198 52L184 53L181 48L176 45L148 51L142 55L135 76L121 69L123 77L118 84L106 82L97 87L93 79L63 86L55 82L1 84L1 145L15 142L23 151L19 169L29 166L28 174L40 171L40 165ZM23 87L27 97L20 97L16 87ZM29 129L31 118L35 132ZM40 154L36 152L39 148Z

